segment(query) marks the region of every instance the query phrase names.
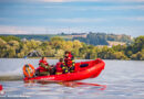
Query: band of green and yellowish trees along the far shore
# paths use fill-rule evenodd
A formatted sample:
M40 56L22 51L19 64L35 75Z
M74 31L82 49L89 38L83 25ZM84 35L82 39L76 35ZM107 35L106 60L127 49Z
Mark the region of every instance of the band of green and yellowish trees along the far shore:
M17 36L0 36L1 58L22 58L33 51L39 52L42 56L52 58L63 57L65 51L71 51L76 58L144 61L144 36L136 37L130 45L112 47L107 45L94 46L79 40L65 41L59 36L51 37L50 41L21 41Z

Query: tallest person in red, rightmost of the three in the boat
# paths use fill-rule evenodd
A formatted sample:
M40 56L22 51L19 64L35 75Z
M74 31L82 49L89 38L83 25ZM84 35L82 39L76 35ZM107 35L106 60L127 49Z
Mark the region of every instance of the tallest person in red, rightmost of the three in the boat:
M73 73L75 68L75 62L71 52L65 52L64 63L65 63L65 66L69 68L69 72Z

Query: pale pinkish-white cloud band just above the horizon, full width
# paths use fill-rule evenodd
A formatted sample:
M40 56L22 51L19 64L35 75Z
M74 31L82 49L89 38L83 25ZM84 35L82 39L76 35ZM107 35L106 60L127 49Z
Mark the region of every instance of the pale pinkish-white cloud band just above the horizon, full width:
M143 35L143 26L6 26L0 25L0 34L58 34L105 32L127 34L132 36Z

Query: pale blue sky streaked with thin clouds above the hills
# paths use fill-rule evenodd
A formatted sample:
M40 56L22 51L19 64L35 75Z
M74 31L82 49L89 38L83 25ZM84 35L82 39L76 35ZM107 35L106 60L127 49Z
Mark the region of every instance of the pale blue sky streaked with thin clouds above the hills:
M0 0L0 34L144 35L144 0Z

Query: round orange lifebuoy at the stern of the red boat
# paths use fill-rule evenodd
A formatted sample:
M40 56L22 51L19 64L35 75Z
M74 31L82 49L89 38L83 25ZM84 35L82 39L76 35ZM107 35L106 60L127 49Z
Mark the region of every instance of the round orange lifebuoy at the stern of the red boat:
M28 78L32 78L34 76L35 69L31 64L27 64L23 66L23 75Z

